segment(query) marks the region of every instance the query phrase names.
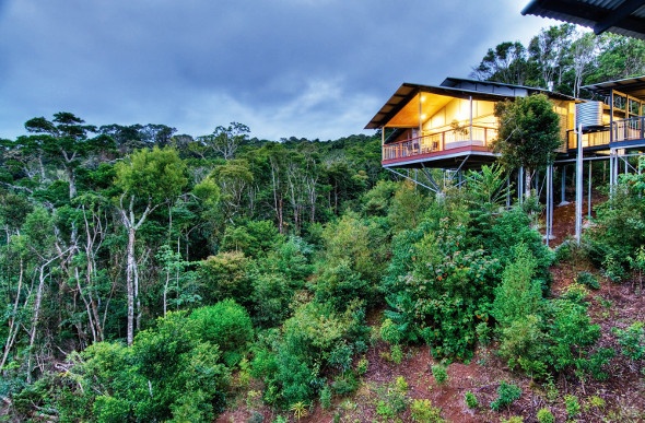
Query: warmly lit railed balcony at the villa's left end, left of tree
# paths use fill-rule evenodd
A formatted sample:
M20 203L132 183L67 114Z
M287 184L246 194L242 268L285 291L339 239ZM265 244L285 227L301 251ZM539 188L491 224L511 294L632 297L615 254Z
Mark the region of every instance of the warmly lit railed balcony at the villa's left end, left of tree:
M421 160L439 160L458 153L482 152L490 154L490 144L497 130L490 127L468 127L446 130L418 138L397 141L383 146L383 164L392 165Z

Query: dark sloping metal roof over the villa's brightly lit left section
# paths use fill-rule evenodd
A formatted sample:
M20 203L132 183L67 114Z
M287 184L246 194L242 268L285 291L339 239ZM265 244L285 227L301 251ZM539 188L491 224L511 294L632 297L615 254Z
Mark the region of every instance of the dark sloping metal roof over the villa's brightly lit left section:
M401 84L387 103L380 107L380 110L374 115L372 120L365 126L365 129L383 128L420 93L462 99L472 97L473 99L491 102L503 102L505 99L525 97L537 93L547 94L550 98L574 99L568 95L553 93L542 89L459 78L447 78L439 86L411 84L406 82Z

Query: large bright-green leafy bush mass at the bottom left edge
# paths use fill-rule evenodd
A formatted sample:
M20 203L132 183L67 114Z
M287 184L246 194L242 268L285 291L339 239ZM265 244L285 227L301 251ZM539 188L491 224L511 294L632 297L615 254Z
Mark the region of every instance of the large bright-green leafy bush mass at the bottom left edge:
M184 314L159 319L132 348L99 342L71 359L57 393L66 421L204 421L224 406L228 371L219 363L219 348Z

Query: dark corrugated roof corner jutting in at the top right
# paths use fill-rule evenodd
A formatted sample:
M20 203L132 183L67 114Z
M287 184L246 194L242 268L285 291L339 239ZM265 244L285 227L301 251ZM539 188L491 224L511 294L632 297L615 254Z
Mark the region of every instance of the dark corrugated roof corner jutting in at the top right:
M521 14L645 39L645 0L532 0Z

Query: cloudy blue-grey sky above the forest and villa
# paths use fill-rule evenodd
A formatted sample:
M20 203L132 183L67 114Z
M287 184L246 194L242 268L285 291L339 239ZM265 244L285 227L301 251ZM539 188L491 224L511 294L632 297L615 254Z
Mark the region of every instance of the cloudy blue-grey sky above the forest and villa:
M402 82L467 78L488 48L556 24L526 3L0 0L0 138L63 110L194 137L361 133Z

